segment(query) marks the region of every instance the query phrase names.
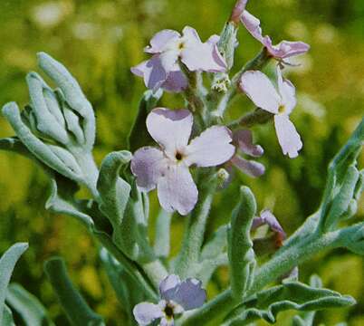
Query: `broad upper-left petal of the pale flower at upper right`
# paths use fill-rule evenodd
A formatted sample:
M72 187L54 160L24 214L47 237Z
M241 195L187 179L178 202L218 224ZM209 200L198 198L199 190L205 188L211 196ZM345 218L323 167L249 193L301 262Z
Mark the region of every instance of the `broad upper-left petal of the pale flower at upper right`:
M263 72L244 72L240 80L240 88L258 108L278 113L281 97Z

